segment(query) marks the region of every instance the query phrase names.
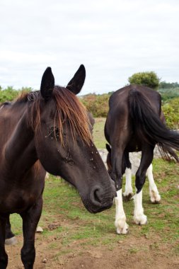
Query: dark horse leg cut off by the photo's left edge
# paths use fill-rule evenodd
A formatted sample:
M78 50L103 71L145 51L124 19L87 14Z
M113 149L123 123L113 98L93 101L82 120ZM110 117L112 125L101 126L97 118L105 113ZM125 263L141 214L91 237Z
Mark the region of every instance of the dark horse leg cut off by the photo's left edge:
M6 217L0 217L0 268L5 269L8 265L8 256L5 251Z

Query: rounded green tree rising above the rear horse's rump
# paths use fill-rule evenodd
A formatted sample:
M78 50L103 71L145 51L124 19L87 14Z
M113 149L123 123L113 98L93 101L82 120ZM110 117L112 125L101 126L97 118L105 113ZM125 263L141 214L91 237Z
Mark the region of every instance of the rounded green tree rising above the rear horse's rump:
M128 81L129 84L139 84L156 89L159 86L160 79L154 71L150 71L135 73L129 76Z

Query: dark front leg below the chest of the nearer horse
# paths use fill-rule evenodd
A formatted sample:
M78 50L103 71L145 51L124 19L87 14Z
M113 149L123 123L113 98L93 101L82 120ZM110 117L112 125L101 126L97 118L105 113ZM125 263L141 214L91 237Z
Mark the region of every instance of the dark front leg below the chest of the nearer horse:
M35 261L35 230L42 212L42 197L37 200L33 207L21 214L23 219L23 248L21 260L25 269L33 269Z

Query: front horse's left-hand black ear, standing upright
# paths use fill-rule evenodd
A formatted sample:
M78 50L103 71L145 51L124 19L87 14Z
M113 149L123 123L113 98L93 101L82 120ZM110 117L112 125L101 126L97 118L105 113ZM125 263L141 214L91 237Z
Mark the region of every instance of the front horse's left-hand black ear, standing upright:
M54 89L54 75L52 74L51 67L47 67L45 70L42 81L40 85L41 96L47 101L52 96L52 91Z

